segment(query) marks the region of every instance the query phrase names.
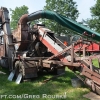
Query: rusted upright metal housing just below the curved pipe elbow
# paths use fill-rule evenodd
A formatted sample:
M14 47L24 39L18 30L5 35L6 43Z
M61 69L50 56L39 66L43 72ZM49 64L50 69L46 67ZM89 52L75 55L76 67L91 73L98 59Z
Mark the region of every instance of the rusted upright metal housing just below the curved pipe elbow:
M23 29L25 29L26 31ZM27 25L19 25L18 28L13 31L13 40L14 40L14 42L17 42L18 50L26 50L27 46L29 46L29 44L30 44L29 40L31 40L30 34L28 33L28 26Z

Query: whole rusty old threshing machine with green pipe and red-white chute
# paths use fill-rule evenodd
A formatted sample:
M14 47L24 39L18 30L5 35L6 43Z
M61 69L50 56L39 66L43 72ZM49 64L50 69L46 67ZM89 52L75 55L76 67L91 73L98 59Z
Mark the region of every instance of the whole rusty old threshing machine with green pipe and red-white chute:
M39 18L55 20L91 39L78 38L65 45L44 25L36 24L30 29L28 22ZM43 70L61 74L68 67L100 95L100 68L92 63L93 59L100 62L100 43L96 41L100 41L99 33L55 12L42 10L22 15L18 28L11 33L9 11L0 9L0 65L11 72L10 81L16 76L16 83L20 83L22 79L37 77Z

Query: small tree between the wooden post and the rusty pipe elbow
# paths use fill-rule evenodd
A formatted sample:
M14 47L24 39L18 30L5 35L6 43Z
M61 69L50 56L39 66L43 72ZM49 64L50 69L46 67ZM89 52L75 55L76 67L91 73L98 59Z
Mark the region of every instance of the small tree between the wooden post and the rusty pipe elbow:
M14 10L10 8L11 13L11 28L12 30L17 28L18 21L23 14L28 14L28 7L23 5L16 7Z

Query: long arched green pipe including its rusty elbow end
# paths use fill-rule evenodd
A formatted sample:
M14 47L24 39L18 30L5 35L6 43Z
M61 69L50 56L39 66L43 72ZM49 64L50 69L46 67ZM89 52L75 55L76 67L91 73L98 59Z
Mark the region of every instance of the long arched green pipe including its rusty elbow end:
M87 31L87 33L89 35L92 35L94 33L95 37L93 37L93 39L100 41L100 34L99 33L92 31L83 25L80 25L79 23L77 23L76 21L73 21L72 19L69 19L65 16L57 14L56 12L52 12L52 11L48 11L48 10L40 10L40 11L34 12L30 15L25 14L20 18L19 23L20 24L27 24L28 21L36 20L39 18L46 18L46 19L55 20L56 22L58 22L62 26L65 26L69 29L72 29L80 34L83 34L84 31Z

